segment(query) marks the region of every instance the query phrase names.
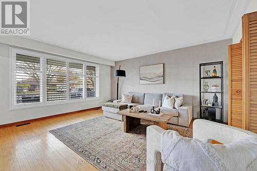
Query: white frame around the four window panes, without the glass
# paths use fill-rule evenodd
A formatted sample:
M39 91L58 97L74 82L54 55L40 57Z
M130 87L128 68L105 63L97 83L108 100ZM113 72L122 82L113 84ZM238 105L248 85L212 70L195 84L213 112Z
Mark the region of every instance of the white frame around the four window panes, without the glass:
M16 91L16 54L23 54L28 56L34 56L41 59L41 71L42 72L42 80L41 80L41 88L42 88L42 99L41 102L35 102L35 103L21 103L16 104L15 100L15 91ZM9 48L9 109L10 110L16 110L16 109L23 109L23 108L32 108L32 107L41 107L41 106L49 106L49 105L59 105L59 104L67 104L67 103L77 103L77 102L86 102L86 101L92 101L92 100L99 100L100 98L100 75L99 75L99 64L95 63L88 63L82 60L74 60L70 58L65 58L57 55L47 54L44 52L36 52L32 50L24 50L19 48L10 47ZM47 86L46 86L46 60L47 59L53 59L53 60L60 60L66 62L66 100L60 100L60 101L47 101ZM84 68L84 75L83 75L83 98L81 99L69 99L69 63L79 63L83 64ZM86 66L95 66L98 72L98 97L93 98L87 98L87 89L86 89ZM38 71L37 71L38 72ZM97 77L97 76L96 76Z

